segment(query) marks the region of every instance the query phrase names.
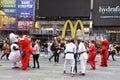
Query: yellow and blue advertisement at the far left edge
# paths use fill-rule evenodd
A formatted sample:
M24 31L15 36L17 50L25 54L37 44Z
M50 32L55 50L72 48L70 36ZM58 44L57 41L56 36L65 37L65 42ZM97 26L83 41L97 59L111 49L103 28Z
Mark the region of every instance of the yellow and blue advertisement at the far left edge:
M0 29L10 30L16 27L16 0L1 0Z

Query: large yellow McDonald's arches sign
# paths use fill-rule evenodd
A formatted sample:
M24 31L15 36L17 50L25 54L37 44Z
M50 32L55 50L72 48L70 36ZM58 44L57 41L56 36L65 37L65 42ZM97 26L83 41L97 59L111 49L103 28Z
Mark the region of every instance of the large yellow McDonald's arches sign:
M69 25L69 26L68 26ZM75 24L72 23L71 20L67 20L63 26L63 31L62 31L62 38L65 38L65 34L66 34L66 28L67 27L70 27L70 30L71 30L71 37L72 38L75 38L75 34L76 34L76 29L77 27L80 26L81 28L81 32L82 32L82 36L85 35L85 32L84 32L84 26L83 26L83 23L81 20L77 20L75 22Z

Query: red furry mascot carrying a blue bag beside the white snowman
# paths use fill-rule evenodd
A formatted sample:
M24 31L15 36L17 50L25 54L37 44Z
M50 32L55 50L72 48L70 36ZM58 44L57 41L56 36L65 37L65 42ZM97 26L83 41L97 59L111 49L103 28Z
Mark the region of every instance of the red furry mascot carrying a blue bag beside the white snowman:
M21 56L22 70L27 70L29 65L30 56L33 52L33 48L30 46L30 38L27 35L23 35L19 38L20 51L24 49L25 55Z

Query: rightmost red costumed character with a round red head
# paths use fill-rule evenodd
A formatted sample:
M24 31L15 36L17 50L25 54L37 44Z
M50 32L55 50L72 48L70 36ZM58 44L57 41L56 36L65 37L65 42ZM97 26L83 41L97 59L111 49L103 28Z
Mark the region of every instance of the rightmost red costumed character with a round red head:
M108 45L109 45L108 40L105 39L105 40L102 41L100 66L103 66L103 67L107 67L108 66L108 62L107 62Z

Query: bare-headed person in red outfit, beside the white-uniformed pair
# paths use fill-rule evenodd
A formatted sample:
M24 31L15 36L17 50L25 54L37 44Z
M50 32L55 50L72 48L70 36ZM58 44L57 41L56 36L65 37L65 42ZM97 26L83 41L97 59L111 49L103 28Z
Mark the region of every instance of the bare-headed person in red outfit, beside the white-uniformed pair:
M88 48L88 63L90 64L90 66L92 67L91 69L93 70L96 69L95 59L96 59L95 41L91 40L89 41L89 48Z

